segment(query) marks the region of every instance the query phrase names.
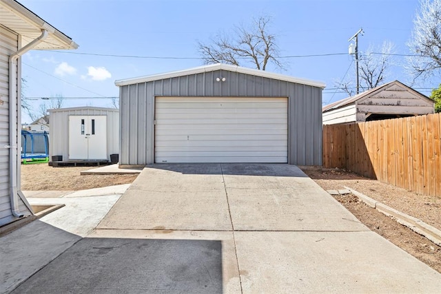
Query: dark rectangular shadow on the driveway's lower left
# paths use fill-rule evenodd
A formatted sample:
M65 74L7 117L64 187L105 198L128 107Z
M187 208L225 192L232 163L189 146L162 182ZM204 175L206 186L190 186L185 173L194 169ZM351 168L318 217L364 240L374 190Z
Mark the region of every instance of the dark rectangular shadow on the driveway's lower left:
M84 238L12 293L222 293L210 240Z

